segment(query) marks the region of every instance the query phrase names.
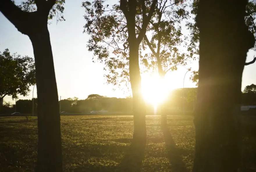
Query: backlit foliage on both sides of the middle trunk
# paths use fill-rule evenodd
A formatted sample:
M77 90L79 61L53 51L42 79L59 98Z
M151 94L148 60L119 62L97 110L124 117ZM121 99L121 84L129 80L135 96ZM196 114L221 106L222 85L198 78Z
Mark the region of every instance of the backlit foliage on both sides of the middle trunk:
M165 20L161 21L159 24L157 23L159 25L158 29L161 30L160 34L164 35L161 40L163 42L163 44L161 44L161 52L159 51L162 63L166 68L173 70L175 67L171 65L174 64L173 66L175 66L175 64L182 63L184 59L184 54L180 54L175 46L182 42L180 39L182 35L180 26L176 26L176 24L178 18L185 18L187 15L187 12L184 10L185 5L176 2L168 4L166 3L167 1L159 0L157 6L160 9L156 8L154 12L152 11L153 17L149 19L151 25L144 26L143 15L149 14L153 4L152 1L143 2L145 3L144 5L142 5L141 1L137 1L136 4L136 37L140 38L139 34L143 32L153 33L153 36L150 37L150 45L153 48L156 46L155 41L158 40L157 27L153 25L155 25L155 22L157 22L159 18L161 13L159 10L176 6L176 8L172 8L172 11L162 11L162 15L166 16ZM107 83L118 86L120 86L121 83L127 85L129 82L128 29L127 21L120 5L114 4L110 6L106 1L95 0L83 2L82 6L85 8L86 14L84 18L87 21L84 26L84 33L88 33L91 36L87 47L89 51L93 51L94 53L93 62L95 62L96 57L98 61L105 64L104 70L109 72L105 75ZM143 10L145 10L145 13L143 13ZM143 31L143 27L146 28L145 31ZM141 40L144 35L141 35ZM146 44L145 40L139 43L140 63L147 69L155 69L156 61L153 57L153 53L143 53L143 51L147 49ZM174 57L172 59L173 61L170 60L170 56Z

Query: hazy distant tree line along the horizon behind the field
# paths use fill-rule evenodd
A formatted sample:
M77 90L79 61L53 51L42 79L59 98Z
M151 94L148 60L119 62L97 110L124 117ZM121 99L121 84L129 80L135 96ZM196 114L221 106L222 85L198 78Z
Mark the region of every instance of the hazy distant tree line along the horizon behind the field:
M163 111L180 109L193 111L195 108L197 88L180 88L173 90L163 103ZM242 93L242 105L256 105L256 85L248 85ZM16 102L16 111L22 114L32 114L32 99L19 99ZM77 97L59 101L61 112L85 113L93 110L108 110L109 112L132 112L132 98L106 97L99 94L90 94L86 99ZM147 104L147 112L153 112L154 107ZM15 112L15 105L4 102L0 114ZM37 98L34 98L34 114L37 114Z

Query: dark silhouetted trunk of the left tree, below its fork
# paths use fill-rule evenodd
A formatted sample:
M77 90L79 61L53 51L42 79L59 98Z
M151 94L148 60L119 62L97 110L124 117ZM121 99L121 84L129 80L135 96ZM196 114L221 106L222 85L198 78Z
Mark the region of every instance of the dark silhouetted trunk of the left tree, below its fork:
M38 96L37 171L62 171L58 91L47 22L29 34L35 56Z

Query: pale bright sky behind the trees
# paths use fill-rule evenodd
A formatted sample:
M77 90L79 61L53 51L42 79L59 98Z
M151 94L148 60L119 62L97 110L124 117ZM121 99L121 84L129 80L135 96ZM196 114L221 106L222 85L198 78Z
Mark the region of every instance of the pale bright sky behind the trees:
M89 36L83 33L83 26L86 21L83 19L84 8L81 7L81 1L66 1L64 17L66 21L48 26L51 46L54 57L54 67L56 82L58 87L59 99L68 97L78 97L85 99L89 94L100 94L111 97L126 97L129 93L124 93L121 89L113 90L113 85L107 85L104 78L104 65L99 62L93 63L93 53L87 50L86 44ZM28 55L34 57L33 47L29 37L23 35L11 24L0 12L0 51L8 48L11 53L17 52L22 56ZM247 61L253 60L255 52L248 52ZM198 60L189 63L186 68L198 70ZM170 89L182 88L183 79L186 73L184 67L178 67L177 71L167 74L170 79L168 86ZM243 71L242 88L246 85L256 83L254 74L256 72L256 63L246 66ZM189 80L190 73L186 73L184 87L195 87L195 83ZM34 93L31 92L27 97L19 96L20 99L31 99L32 95L37 97L36 86ZM6 96L4 101L15 103L10 96Z

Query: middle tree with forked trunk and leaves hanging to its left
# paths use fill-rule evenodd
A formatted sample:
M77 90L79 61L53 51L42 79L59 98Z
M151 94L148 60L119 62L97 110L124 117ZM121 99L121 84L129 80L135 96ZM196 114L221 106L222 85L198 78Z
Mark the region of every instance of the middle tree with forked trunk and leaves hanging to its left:
M109 8L105 1L94 0L92 3L89 1L82 3L86 9L84 18L87 21L84 32L91 36L88 50L93 51L94 55L106 64L106 68L111 73L106 75L109 83L118 85L120 76L121 81L122 78L126 78L131 84L134 112L133 138L141 143L146 142L146 111L141 94L139 47L156 4L157 0L121 0L120 5L115 4ZM135 28L136 24L141 30ZM121 45L124 48L120 48ZM110 57L112 55L115 56Z

